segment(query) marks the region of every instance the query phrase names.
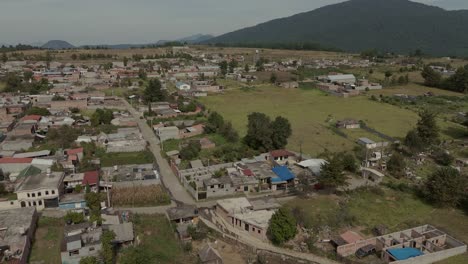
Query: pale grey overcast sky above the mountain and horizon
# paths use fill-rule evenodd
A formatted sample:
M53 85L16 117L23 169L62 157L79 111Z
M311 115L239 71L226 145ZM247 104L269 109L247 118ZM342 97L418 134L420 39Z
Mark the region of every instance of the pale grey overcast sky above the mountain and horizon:
M55 39L73 45L142 44L220 35L342 1L0 0L0 44Z

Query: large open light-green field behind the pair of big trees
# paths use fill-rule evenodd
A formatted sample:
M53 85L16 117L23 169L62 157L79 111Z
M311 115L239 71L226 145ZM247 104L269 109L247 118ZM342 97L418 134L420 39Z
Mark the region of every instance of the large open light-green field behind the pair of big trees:
M368 126L393 137L403 137L417 121L413 111L373 102L364 96L344 99L313 89L287 90L270 85L257 86L250 91L234 89L200 101L231 121L241 135L246 132L247 115L251 112L263 112L272 118L284 116L293 129L288 147L299 150L302 141L303 150L308 154L318 154L324 149L350 150L355 146L352 140L330 130L329 127L340 119L363 120Z

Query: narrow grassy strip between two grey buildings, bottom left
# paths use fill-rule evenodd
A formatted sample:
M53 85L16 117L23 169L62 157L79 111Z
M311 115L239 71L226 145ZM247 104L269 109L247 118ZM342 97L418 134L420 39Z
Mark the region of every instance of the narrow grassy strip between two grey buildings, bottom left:
M39 219L28 263L60 263L63 219Z

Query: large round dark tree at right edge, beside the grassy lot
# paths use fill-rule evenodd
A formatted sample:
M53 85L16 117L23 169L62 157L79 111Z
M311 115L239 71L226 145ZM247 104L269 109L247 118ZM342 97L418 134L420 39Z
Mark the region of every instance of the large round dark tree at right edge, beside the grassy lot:
M438 169L426 180L423 193L437 206L457 206L465 198L467 177L451 167Z

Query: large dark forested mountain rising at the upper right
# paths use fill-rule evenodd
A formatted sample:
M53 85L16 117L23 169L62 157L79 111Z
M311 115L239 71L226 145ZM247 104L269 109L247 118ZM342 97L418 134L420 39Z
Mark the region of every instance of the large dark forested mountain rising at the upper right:
M408 0L350 0L272 20L204 43L311 42L345 51L368 49L468 56L468 11Z

